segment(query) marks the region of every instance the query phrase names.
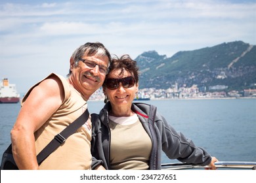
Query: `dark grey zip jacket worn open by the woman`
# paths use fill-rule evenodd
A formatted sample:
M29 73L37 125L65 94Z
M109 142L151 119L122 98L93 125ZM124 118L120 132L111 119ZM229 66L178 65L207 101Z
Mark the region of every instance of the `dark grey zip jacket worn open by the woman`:
M152 152L150 156L150 169L161 169L161 152L165 152L169 159L178 159L183 163L194 165L209 165L211 156L197 147L190 139L186 139L167 124L163 116L158 114L156 107L145 103L133 103L133 112L137 113L146 133L152 140ZM110 167L110 141L111 133L108 127L108 112L110 103L106 103L100 110L100 114L91 114L93 123L93 135L91 141L91 153L93 155L92 169L103 165L105 169Z

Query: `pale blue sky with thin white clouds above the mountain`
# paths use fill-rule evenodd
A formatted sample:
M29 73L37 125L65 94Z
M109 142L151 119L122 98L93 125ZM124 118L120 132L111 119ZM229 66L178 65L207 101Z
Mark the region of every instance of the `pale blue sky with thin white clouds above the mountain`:
M135 59L223 42L256 44L256 1L112 0L0 2L0 78L26 92L49 73L65 76L72 52L102 42Z

